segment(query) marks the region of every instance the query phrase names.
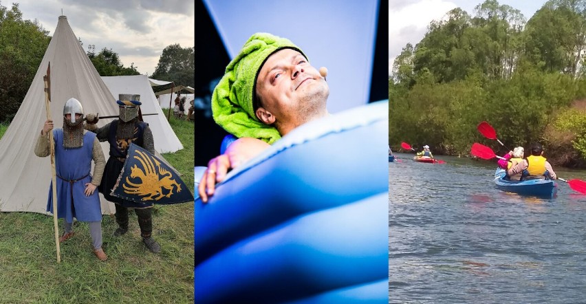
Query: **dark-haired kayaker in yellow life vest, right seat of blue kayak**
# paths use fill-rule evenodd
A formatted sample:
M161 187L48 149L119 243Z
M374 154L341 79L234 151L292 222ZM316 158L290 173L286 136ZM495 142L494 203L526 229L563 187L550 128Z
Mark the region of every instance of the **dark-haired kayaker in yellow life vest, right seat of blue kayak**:
M520 180L550 179L557 180L556 173L550 162L543 157L543 146L539 143L531 145L531 155L527 159L517 162L507 170L507 175Z

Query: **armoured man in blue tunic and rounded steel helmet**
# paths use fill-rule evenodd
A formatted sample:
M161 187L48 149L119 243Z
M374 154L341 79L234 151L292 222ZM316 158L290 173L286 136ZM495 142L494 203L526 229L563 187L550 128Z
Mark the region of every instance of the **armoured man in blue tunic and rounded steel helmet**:
M49 132L53 121L47 120L36 140L34 154L44 158L50 155ZM73 219L89 223L89 235L94 254L100 261L108 258L102 250L102 210L96 191L102 180L106 159L96 134L83 129L83 107L75 98L69 98L63 107L63 129L55 129L55 169L57 188L57 215L65 219L65 233L59 243L74 236ZM94 160L94 175L90 175ZM47 211L53 212L52 187L49 188Z

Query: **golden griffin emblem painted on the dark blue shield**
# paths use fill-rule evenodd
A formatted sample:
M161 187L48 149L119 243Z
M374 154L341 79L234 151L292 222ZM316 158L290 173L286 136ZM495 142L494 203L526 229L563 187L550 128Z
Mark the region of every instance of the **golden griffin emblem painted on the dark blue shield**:
M159 200L163 197L171 197L173 193L181 192L181 185L177 184L171 172L162 168L161 163L156 159L149 158L142 151L136 151L138 155L134 158L142 164L139 168L136 164L131 167L131 178L139 178L140 183L133 183L129 177L126 182L122 184L124 193L131 195L138 195L142 201ZM154 163L153 163L154 161ZM175 192L173 192L175 190Z

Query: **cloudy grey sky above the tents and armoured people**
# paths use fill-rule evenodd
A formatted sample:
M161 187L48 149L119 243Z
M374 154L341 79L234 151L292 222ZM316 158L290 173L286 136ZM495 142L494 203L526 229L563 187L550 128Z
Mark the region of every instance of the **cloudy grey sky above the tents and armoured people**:
M163 49L179 43L194 44L193 0L12 0L19 3L23 19L37 19L53 34L63 14L83 42L96 45L96 54L107 47L118 53L122 64L134 63L141 74L155 72Z

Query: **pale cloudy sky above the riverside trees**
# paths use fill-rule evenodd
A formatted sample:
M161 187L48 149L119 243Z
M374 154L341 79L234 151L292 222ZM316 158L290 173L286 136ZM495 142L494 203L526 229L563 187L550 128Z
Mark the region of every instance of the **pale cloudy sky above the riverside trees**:
M474 15L474 8L484 0L389 0L389 75L395 57L407 43L415 46L432 20L442 19L453 8L462 8ZM545 0L499 0L521 11L529 20L543 6Z

